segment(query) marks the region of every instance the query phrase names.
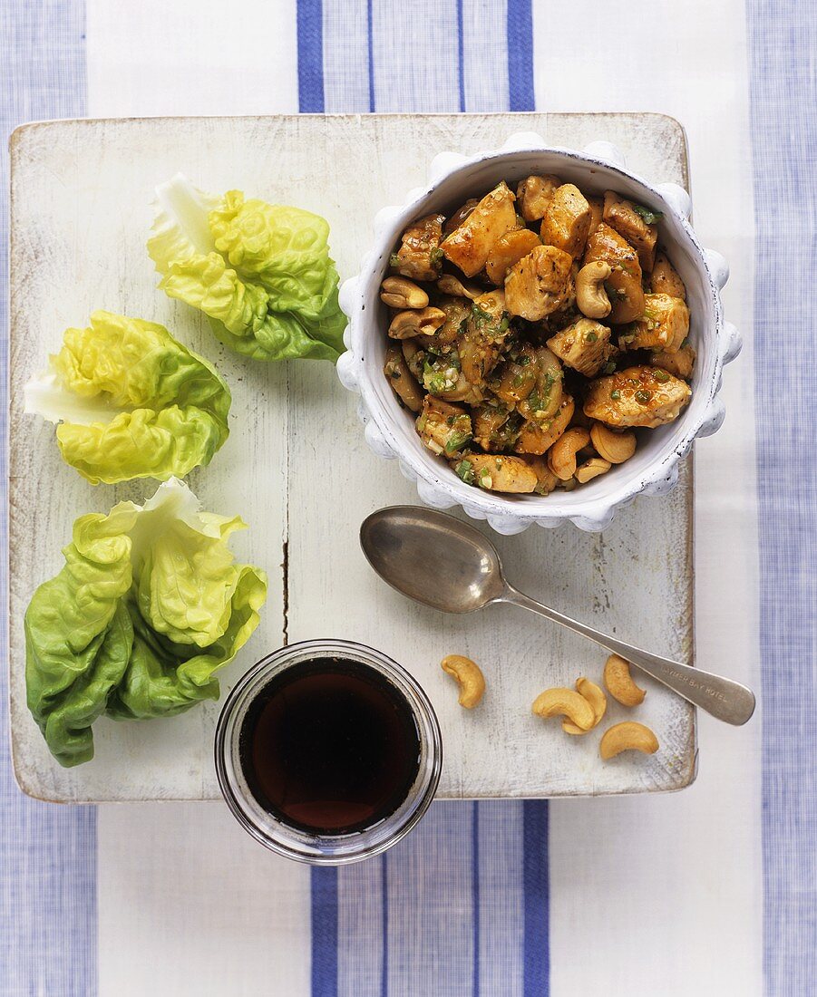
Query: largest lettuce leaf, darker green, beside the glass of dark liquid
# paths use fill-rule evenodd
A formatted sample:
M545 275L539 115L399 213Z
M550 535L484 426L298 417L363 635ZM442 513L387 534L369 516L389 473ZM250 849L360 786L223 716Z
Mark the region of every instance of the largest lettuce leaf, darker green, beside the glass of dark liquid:
M93 758L103 714L167 717L218 698L214 673L266 598L264 572L229 550L241 528L177 479L142 506L77 519L65 566L25 616L28 706L61 765Z

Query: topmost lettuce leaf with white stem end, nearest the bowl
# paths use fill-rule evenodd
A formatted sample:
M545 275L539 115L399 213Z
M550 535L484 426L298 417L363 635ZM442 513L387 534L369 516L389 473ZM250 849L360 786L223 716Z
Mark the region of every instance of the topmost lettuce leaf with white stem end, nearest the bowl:
M255 360L335 361L346 319L329 226L298 207L205 193L179 173L157 187L148 252L160 287L200 309L215 336Z

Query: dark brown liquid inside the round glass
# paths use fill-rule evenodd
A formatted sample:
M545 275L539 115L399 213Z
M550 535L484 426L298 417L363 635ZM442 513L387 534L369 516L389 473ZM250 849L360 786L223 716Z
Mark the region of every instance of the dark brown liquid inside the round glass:
M281 672L251 704L241 768L258 804L313 833L362 831L393 814L420 767L409 705L377 671L316 658Z

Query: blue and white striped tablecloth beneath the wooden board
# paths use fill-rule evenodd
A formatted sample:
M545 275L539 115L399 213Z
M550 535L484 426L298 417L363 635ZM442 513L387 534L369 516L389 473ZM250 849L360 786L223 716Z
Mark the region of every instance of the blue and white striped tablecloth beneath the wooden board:
M683 794L438 804L387 856L340 872L267 855L217 806L27 800L4 733L0 993L817 992L809 13L781 0L0 4L5 134L84 115L678 118L696 227L732 264L725 303L745 341L727 423L696 453L698 655L762 691L746 729L702 718ZM5 198L5 152L1 168ZM5 268L5 230L0 242ZM4 362L5 294L3 273Z

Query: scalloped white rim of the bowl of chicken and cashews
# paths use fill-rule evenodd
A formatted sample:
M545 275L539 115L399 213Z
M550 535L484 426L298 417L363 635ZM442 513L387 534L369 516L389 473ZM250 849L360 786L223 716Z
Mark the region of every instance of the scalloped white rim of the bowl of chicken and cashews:
M641 187L643 199L657 202L664 216L671 217L688 257L685 261L687 274L684 276L687 289L690 287L687 277L691 265L701 285L699 289L711 310L711 317L697 332L695 345L700 355L700 337L708 336L713 349L705 380L701 381L698 372L692 402L676 422L663 428L670 432L664 433L660 451L649 461L648 467L627 475L627 462L617 466L612 473L570 493L557 491L549 496L507 498L466 485L447 465L441 464L439 458L426 453L419 438L415 438L414 445L406 437L395 418L395 410L404 422L405 414L399 409L383 378L382 364L373 363L371 351L366 349L371 334L372 311L369 315L365 312L368 301L379 306L377 292L385 272L384 256L392 251L409 222L432 209L426 201L433 199L441 186L460 178L467 183L468 174L478 166L499 167L501 163L525 157L543 156L562 160L563 172L578 168L591 175L599 170L605 174L613 173L619 178L619 185ZM714 433L723 422L724 408L718 398L722 369L740 350L739 334L734 326L724 321L720 302L719 291L728 277L726 261L719 253L704 249L698 242L688 221L690 199L682 187L674 183L649 183L639 174L624 168L623 163L623 156L609 143L593 143L584 152L578 152L548 146L533 133L520 133L512 136L498 150L470 157L441 153L430 166L430 179L426 186L409 191L401 205L389 206L378 212L373 247L364 256L359 274L347 280L341 288L340 305L349 318L349 325L344 334L347 352L338 361L338 376L346 388L361 396L358 415L365 426L369 446L381 457L397 458L401 471L416 482L418 495L427 504L438 508L461 505L469 515L487 519L502 533L520 532L534 522L553 527L571 521L581 529L603 529L612 520L615 510L629 504L636 496L668 492L677 481L678 462L689 452L694 440ZM513 166L513 163L510 165ZM526 167L523 173L528 171L530 167ZM543 166L542 171L557 170ZM509 168L507 172L513 172L513 169ZM609 188L611 184L605 183L604 186ZM385 336L379 324L376 329L377 335L382 336L385 349ZM368 362L367 353L370 355ZM639 450L642 451L642 448Z

